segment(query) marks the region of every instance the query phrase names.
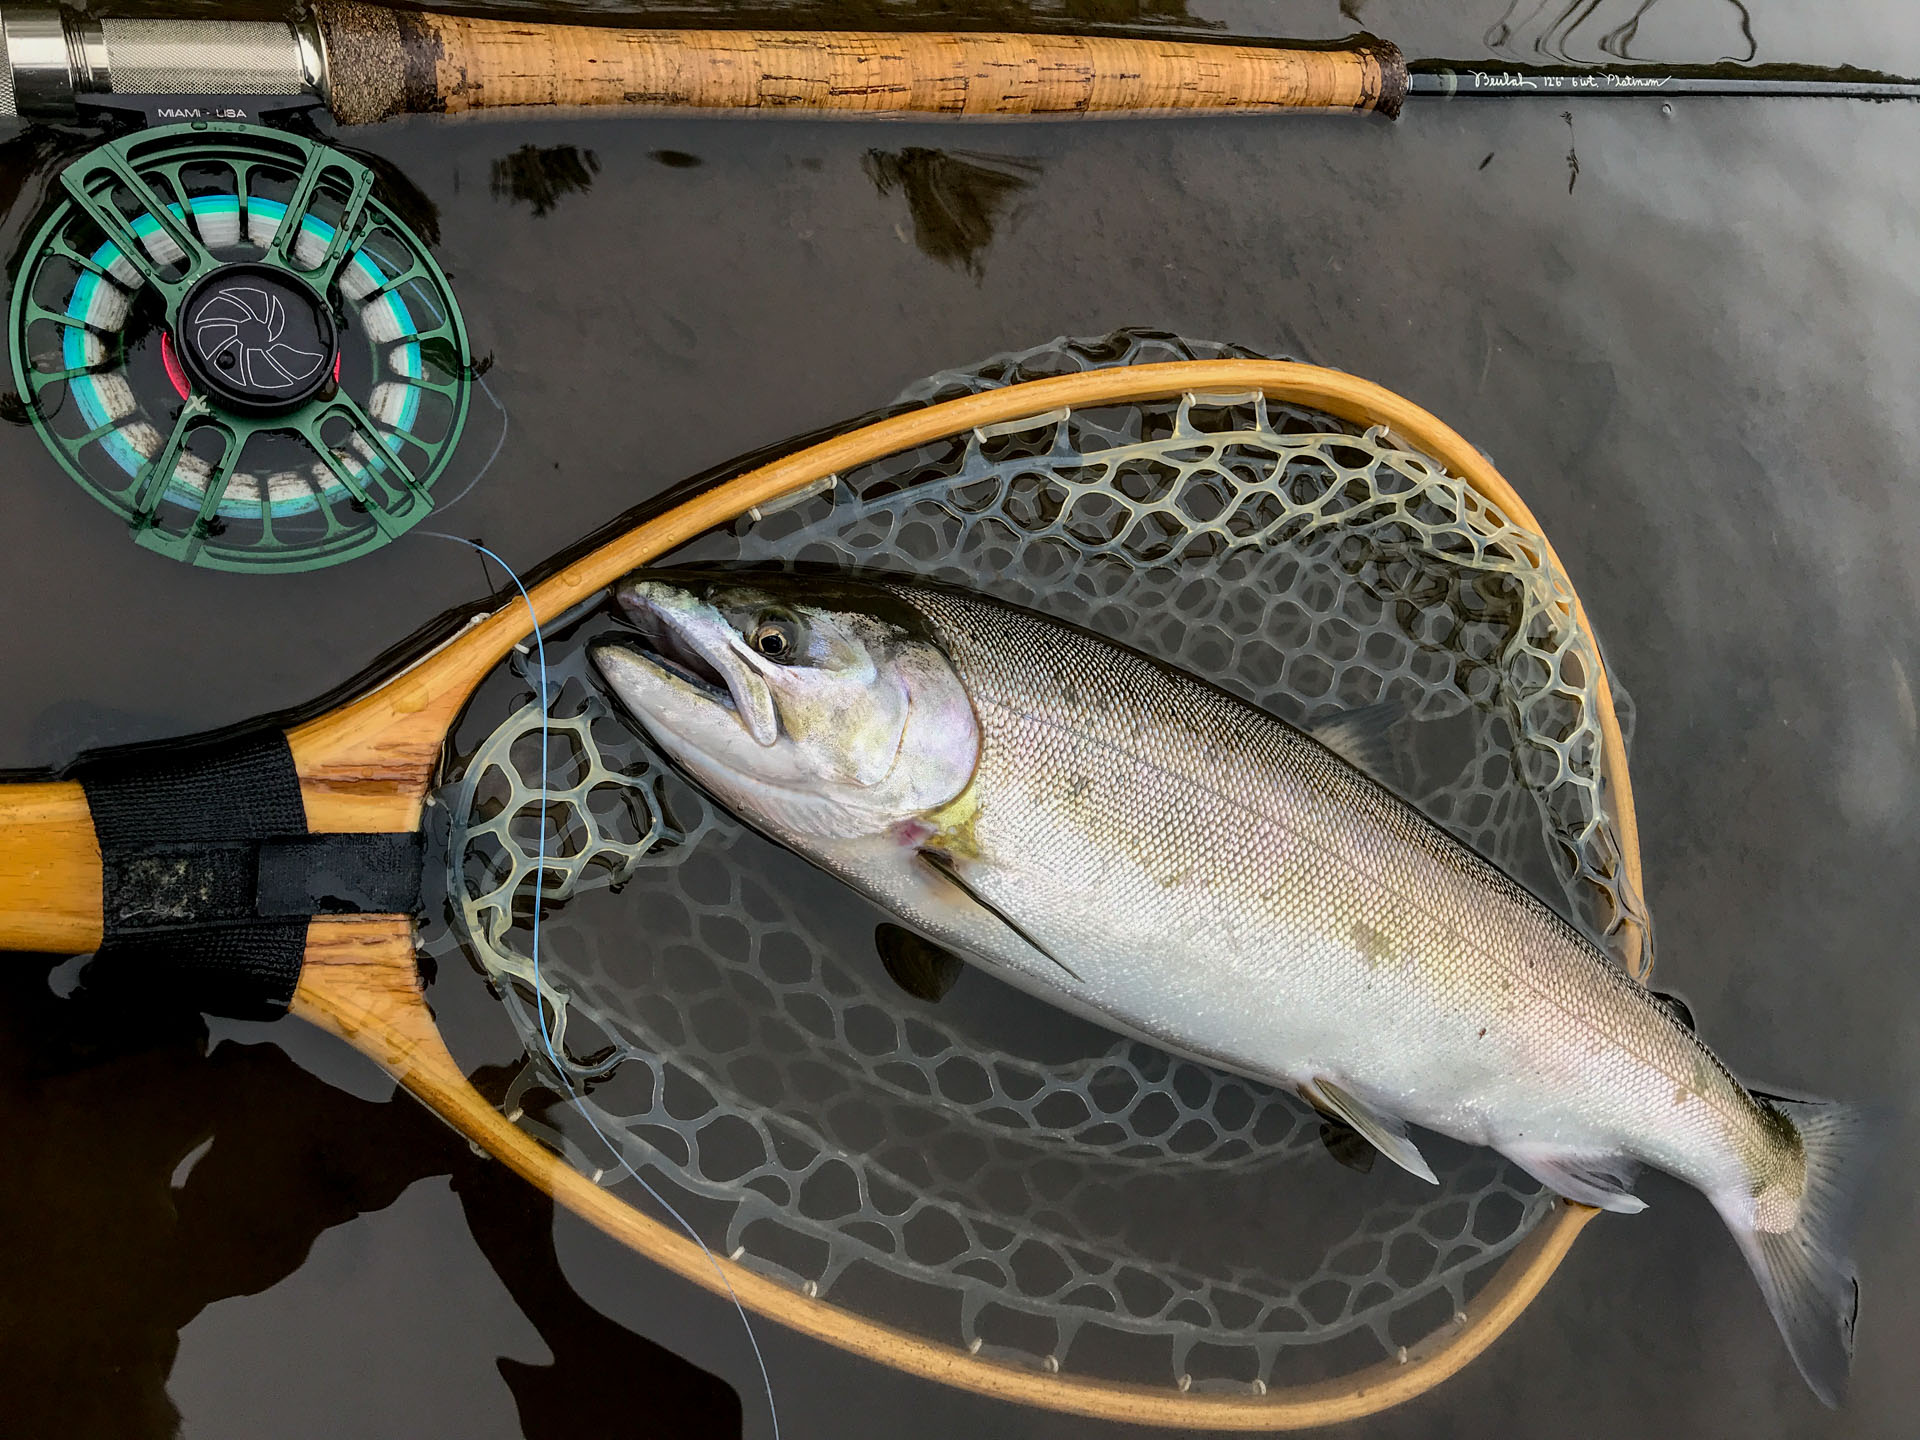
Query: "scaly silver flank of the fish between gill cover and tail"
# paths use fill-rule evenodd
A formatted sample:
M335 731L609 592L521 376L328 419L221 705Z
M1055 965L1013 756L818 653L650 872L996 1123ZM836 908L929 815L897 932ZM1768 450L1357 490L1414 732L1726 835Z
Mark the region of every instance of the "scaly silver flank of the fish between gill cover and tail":
M1546 1133L1611 1154L1632 1125L1642 1158L1695 1185L1722 1181L1728 1154L1761 1158L1759 1106L1692 1033L1327 747L1081 632L897 593L947 643L981 720L973 883L1102 987L1114 1021L1263 1079L1332 1073L1476 1142ZM1064 776L1091 783L1069 797ZM1394 941L1392 962L1361 927ZM1031 979L1066 979L996 948ZM1538 1098L1515 1114L1505 1077L1540 1054L1576 1089L1551 1114ZM1678 1089L1703 1104L1674 1106Z

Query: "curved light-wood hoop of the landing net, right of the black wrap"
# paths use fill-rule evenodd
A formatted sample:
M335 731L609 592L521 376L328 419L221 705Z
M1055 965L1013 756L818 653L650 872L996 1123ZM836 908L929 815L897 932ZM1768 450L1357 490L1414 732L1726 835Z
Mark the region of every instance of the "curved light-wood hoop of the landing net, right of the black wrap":
M977 426L1066 407L1133 403L1192 392L1260 392L1361 426L1384 424L1400 442L1432 457L1534 534L1540 524L1480 451L1411 401L1338 371L1290 361L1171 361L1029 380L927 405L826 440L703 492L559 570L532 589L541 624L685 541L728 524L824 476ZM1565 574L1551 543L1546 561ZM1572 589L1569 582L1569 591ZM1586 611L1572 618L1594 655L1599 645ZM288 733L313 829L415 829L440 745L480 680L528 634L515 599L401 676ZM1601 747L1628 876L1640 887L1626 747L1599 664ZM572 1169L511 1125L468 1085L434 1027L419 989L411 924L399 918L319 918L311 924L294 1014L355 1044L442 1117L559 1204L678 1275L720 1290L712 1261L689 1238L653 1221ZM1087 1417L1217 1430L1290 1430L1373 1415L1411 1400L1484 1352L1553 1275L1594 1210L1569 1202L1501 1261L1463 1319L1411 1346L1404 1359L1309 1388L1265 1396L1181 1394L1046 1375L975 1359L887 1325L812 1300L756 1271L720 1261L741 1302L804 1334L924 1379L1010 1402Z

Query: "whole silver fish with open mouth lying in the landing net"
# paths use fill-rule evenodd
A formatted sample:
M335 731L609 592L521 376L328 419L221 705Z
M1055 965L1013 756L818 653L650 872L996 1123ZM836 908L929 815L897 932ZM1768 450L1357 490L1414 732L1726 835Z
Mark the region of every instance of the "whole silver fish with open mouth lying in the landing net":
M1860 1112L1759 1096L1578 929L1319 739L1037 614L918 584L659 572L593 651L747 824L1112 1029L1407 1121L1615 1212L1653 1165L1732 1229L1839 1404Z

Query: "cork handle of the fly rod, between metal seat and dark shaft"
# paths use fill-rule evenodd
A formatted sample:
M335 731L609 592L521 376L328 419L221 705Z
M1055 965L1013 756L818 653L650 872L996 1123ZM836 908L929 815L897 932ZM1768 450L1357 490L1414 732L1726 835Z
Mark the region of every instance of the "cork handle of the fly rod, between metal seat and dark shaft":
M495 106L868 115L1398 113L1400 52L1085 35L630 31L321 0L344 125Z

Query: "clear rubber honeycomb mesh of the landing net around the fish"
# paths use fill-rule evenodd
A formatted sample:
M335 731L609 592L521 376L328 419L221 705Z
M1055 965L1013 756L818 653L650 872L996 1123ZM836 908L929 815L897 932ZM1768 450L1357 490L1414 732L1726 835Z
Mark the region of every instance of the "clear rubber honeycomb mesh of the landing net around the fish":
M900 403L1244 353L1058 340ZM1411 716L1392 783L1626 935L1597 657L1542 555L1390 434L1187 396L893 455L684 559L958 582L1296 724L1392 703ZM547 637L545 783L526 655L476 695L436 806L438 943L480 966L532 1056L507 1106L601 1183L632 1185L624 1158L718 1254L983 1359L1242 1392L1405 1359L1548 1212L1498 1156L1438 1137L1438 1187L1344 1169L1292 1096L983 973L939 1004L902 995L874 950L883 916L685 787L599 691L584 647L616 624L588 609Z

